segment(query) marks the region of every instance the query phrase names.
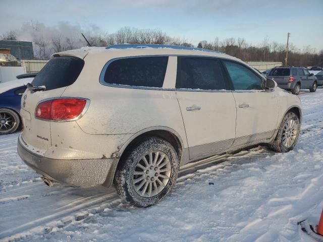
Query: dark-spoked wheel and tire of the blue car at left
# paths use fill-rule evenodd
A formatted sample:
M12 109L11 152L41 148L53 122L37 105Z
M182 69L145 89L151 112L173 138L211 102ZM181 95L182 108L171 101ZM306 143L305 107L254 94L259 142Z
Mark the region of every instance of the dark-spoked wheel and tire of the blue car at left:
M14 133L19 125L20 118L15 111L9 108L0 108L0 135Z

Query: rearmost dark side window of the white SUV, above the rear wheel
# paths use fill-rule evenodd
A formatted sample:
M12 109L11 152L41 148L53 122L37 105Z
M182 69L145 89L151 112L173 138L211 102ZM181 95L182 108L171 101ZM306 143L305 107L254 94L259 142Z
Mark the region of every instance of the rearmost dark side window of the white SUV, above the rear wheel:
M168 56L122 58L107 66L104 82L110 84L163 87Z

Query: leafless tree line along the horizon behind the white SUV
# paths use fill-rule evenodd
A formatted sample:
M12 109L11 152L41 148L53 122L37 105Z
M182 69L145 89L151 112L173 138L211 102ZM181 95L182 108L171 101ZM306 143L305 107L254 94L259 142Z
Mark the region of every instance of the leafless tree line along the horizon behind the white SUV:
M78 36L66 36L61 32L48 35L42 32L41 26L37 22L27 24L32 32L34 55L39 59L48 59L52 53L80 48L86 46L85 40ZM25 26L26 28L26 26ZM159 29L138 29L124 27L115 33L85 33L92 46L109 46L121 43L141 43L141 44L171 44L193 47L193 44L185 38L174 38ZM3 39L17 40L14 31L3 34ZM219 37L213 41L200 41L199 48L211 49L238 57L245 62L283 62L286 57L286 44L277 41L269 41L266 36L261 44L254 45L248 43L244 38L227 38L221 40ZM288 52L288 64L291 66L323 66L323 50L319 53L311 46L304 46L298 49L290 44Z

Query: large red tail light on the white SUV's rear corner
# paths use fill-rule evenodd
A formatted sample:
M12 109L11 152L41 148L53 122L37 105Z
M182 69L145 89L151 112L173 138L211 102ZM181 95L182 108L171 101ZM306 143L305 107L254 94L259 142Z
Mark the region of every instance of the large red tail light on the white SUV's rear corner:
M85 109L87 99L57 98L40 102L35 117L48 120L71 120L79 117Z

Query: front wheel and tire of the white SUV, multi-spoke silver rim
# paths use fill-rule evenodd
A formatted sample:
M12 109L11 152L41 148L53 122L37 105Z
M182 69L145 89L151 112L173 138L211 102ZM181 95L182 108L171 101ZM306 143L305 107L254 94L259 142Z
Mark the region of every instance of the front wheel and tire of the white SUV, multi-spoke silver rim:
M293 150L300 132L300 120L294 112L288 112L282 120L275 140L270 147L280 153Z

